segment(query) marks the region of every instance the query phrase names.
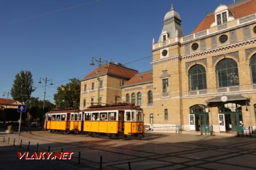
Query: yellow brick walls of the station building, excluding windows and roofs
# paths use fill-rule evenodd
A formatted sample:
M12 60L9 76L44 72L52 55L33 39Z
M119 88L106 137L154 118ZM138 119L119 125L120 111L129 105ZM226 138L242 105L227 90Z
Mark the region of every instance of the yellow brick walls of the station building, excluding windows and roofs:
M119 97L118 102L126 101L127 94L129 94L129 102L131 102L131 94L134 93L135 104L138 104L137 94L141 92L144 124L153 125L154 130L175 130L176 125L181 125L182 129L187 131L200 130L199 126L203 125L201 121L205 116L205 124L212 125L214 132L234 131L234 117L238 116L236 120L239 120L237 124L240 125L237 126L251 126L255 132L256 84L253 83L250 67L250 59L256 55L255 27L256 14L252 14L249 19L248 16L233 19L226 24L216 25L185 37L177 36L176 33L176 36L165 41L159 40L156 43L153 41L152 82L120 86L120 78L102 76L101 79L104 80L104 88L100 91L102 103L114 103L115 96ZM220 41L222 35L228 37L226 42ZM193 50L192 45L195 43L198 44L198 48ZM166 56L163 56L163 50L167 50ZM218 87L216 67L221 61L228 58L233 59L237 64L239 84ZM202 90L191 90L190 88L189 70L195 65L201 65L205 69L207 88ZM167 79L168 82L165 91L163 90L163 79ZM95 82L96 90L83 92L84 84L92 82ZM148 91L152 91L153 94L152 104L148 104ZM96 101L96 78L81 82L80 105L82 106L83 99L86 99L87 107L92 96ZM228 101L221 101L221 96L228 96ZM232 100L232 96L235 99L240 96L243 98ZM218 100L213 101L213 99ZM220 111L221 105L229 103L241 105L239 114ZM204 105L205 113L192 113L191 107L195 105ZM222 120L222 116L225 120Z

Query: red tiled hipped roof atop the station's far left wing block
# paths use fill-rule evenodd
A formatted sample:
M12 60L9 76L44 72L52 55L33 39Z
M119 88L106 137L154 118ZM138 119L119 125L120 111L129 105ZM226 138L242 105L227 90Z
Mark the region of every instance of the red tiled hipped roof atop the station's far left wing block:
M132 78L135 74L137 74L137 70L130 69L128 67L117 65L115 63L108 63L108 67L106 65L101 66L100 74L108 74L108 75L115 75L121 76L123 78ZM90 74L86 75L83 80L94 78L98 75L98 68L94 69Z

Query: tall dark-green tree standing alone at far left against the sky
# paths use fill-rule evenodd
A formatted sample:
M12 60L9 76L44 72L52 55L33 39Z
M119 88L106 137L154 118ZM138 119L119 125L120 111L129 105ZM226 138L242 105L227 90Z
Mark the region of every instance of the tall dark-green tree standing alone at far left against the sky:
M31 93L35 91L33 83L30 71L20 71L20 73L16 74L13 87L11 88L13 99L16 101L27 101L30 99Z

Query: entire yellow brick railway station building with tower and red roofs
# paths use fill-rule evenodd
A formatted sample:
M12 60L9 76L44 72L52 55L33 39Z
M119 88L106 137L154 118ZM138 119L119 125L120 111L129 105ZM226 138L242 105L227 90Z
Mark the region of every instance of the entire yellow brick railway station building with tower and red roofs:
M152 41L152 70L102 65L81 80L80 109L125 101L140 105L144 124L156 131L181 125L225 133L250 126L255 133L255 6L255 0L217 6L187 36L171 6Z

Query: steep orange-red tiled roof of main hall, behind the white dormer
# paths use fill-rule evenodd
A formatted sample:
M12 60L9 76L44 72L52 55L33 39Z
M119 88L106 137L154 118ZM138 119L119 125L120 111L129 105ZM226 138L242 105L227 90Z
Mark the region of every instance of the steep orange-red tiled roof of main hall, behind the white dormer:
M239 3L236 5L231 5L229 11L234 14L234 18L242 18L247 15L256 13L256 0L251 0L245 3ZM210 28L210 25L214 22L214 14L206 16L199 25L191 32L191 34L204 31L205 29Z

